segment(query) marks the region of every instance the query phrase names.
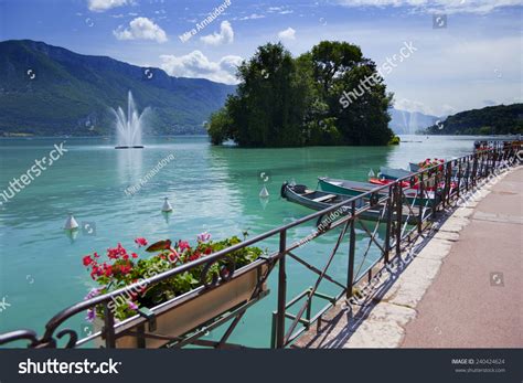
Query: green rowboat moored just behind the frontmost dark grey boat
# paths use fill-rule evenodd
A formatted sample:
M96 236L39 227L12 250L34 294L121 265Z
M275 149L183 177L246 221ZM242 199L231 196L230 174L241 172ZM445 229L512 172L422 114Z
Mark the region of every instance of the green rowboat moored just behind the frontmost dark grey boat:
M388 183L393 181L387 180L386 182ZM387 184L387 183L384 183L384 184ZM408 188L408 182L403 182L403 183L404 183L402 185L404 188L403 193L405 194L407 202L409 204L413 204L414 202L415 205L419 205L419 204L429 205L431 201L427 201L427 199L433 200L435 198L435 193L428 191L427 198L418 199L418 191L416 189ZM351 195L351 196L356 196L356 195L366 193L378 187L377 184L370 183L370 182L338 180L338 179L332 179L328 177L319 177L318 184L322 191ZM386 194L387 194L387 190L380 191L381 196L386 195Z

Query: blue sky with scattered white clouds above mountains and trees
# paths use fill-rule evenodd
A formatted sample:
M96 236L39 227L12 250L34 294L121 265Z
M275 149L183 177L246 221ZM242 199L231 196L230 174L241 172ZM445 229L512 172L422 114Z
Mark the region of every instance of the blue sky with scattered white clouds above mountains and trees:
M378 66L407 43L415 51L385 75L397 108L446 115L522 102L521 1L227 2L0 0L0 39L44 41L230 84L235 65L268 41L298 55L321 40L344 40ZM180 39L222 4L213 21Z

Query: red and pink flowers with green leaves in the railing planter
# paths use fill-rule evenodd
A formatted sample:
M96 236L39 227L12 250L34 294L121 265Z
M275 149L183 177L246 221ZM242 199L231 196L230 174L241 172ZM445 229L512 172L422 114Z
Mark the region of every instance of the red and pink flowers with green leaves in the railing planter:
M145 238L136 238L135 242L139 247L147 245ZM182 264L206 257L241 242L237 236L213 242L210 234L202 233L194 246L181 240L174 244L169 240L160 241L146 249L154 253L149 258L140 258L137 253L129 253L121 244L107 249L107 260L105 262L102 260L98 253L86 255L83 258L83 264L90 272L92 278L99 285L98 288L93 289L86 296L86 299L138 284L136 287L127 288L124 295L108 304L116 319L122 320L132 317L140 307L151 308L202 286L206 264L193 267L154 285L147 284L146 279ZM205 273L205 280L217 279L221 270L222 273L224 273L223 270L227 274L232 273L233 265L234 269L246 266L256 260L263 253L258 247L244 247L235 251L211 264ZM96 312L93 309L88 310L87 319L93 320L95 317L104 317L102 308L97 308Z

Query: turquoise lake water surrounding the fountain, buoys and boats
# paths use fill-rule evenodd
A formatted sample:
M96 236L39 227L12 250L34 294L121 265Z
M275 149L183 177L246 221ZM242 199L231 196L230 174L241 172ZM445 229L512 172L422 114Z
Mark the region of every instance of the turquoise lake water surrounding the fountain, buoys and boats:
M317 177L364 181L370 169L380 166L406 167L427 157L450 159L472 151L477 137L402 137L397 147L314 147L297 149L238 149L212 147L206 137L146 138L143 150L115 150L107 139L46 138L0 140L0 192L20 178L35 159L49 156L55 143L66 141L68 151L31 184L0 205L0 332L32 328L40 334L57 311L82 300L93 281L82 257L121 242L132 247L134 238L149 242L163 238L195 240L209 232L216 240L248 228L250 235L287 224L311 213L279 196L284 181L316 187ZM127 195L159 161L164 166L141 190ZM267 203L258 198L260 173L268 175ZM169 196L173 213L160 212ZM0 198L0 202L3 200ZM92 233L66 235L68 213L78 223L88 223ZM311 233L313 224L289 233L289 242ZM303 246L298 254L321 267L335 234ZM357 246L366 246L362 231ZM277 241L264 243L277 248ZM346 276L346 246L341 247L330 274L341 281ZM366 262L377 254L373 249ZM276 309L276 283L271 294L244 317L231 338L253 347L268 347L271 311ZM288 299L309 287L316 277L296 262L288 262ZM329 283L321 291L335 292ZM84 333L83 316L66 323ZM217 336L220 330L211 333Z

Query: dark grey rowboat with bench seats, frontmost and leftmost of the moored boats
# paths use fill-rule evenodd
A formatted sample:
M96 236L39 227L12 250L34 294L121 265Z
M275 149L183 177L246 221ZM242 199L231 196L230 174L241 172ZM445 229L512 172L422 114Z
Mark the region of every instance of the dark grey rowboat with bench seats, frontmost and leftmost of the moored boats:
M344 195L344 194L338 194L338 193L331 193L331 192L325 192L321 190L311 190L307 188L303 184L296 184L296 185L290 185L287 182L285 182L281 185L281 196L287 199L290 202L300 204L302 206L316 210L316 211L321 211L324 209L328 209L332 205L339 204L343 201L349 201L353 196L351 195ZM370 200L369 199L357 199L356 200L356 210L362 209L364 206L369 205ZM351 203L348 203L346 206L343 206L340 209L341 214L349 214L350 209L351 209ZM364 212L361 212L359 216L363 220L367 221L377 221L381 216L385 219L386 212L384 212L385 205L384 204L376 204L375 206L365 210ZM393 213L395 215L395 213ZM318 224L321 222L321 219L318 221ZM403 214L403 221L407 220L407 214ZM416 223L416 216L409 216L408 221L410 224Z

